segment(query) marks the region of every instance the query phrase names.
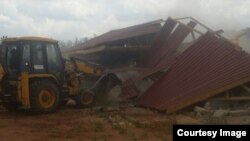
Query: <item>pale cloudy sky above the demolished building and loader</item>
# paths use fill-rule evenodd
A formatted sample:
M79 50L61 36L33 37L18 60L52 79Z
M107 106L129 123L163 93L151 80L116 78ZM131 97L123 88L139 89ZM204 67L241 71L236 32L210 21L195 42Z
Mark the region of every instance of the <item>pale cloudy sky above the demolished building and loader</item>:
M250 27L250 0L0 0L0 36L57 40L167 17L194 17L214 30Z

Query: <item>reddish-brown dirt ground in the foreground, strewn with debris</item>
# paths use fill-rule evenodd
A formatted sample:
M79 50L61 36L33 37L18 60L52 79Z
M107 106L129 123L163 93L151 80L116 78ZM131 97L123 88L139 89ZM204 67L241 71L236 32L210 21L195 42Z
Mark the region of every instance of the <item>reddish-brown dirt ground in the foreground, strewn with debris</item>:
M138 107L76 109L33 115L0 108L1 141L171 141L173 124L250 124L245 117L167 115Z

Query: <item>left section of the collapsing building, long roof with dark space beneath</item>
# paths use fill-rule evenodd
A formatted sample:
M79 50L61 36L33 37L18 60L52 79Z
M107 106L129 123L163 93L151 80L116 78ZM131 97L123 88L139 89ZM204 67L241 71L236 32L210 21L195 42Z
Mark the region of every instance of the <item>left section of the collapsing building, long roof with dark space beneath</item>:
M105 68L133 65L149 52L162 28L162 22L156 20L112 30L62 52L66 56L101 64Z

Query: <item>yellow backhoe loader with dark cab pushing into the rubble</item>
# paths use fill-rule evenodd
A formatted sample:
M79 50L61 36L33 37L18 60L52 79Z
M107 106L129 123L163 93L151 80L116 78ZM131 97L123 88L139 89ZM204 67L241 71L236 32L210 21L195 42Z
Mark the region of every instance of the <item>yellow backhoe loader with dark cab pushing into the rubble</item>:
M58 42L42 37L2 39L0 47L0 101L10 111L20 107L48 113L73 98L89 107L95 94L81 76L101 76L102 69L76 59L64 60Z

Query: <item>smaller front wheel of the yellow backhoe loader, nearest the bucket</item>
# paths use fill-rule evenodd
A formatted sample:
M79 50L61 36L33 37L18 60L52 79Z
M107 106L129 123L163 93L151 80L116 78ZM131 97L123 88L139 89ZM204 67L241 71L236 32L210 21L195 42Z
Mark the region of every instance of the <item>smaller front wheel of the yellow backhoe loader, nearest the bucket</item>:
M94 93L86 89L80 90L74 99L78 108L92 107L95 103Z

